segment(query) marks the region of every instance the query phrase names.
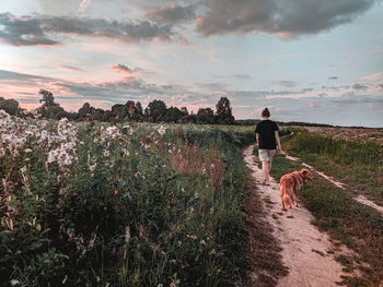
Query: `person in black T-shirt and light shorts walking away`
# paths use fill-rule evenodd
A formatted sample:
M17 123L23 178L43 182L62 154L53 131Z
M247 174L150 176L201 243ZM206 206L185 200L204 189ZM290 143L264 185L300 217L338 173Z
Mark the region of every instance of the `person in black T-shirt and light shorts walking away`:
M268 108L265 108L262 111L262 121L258 122L255 128L258 156L262 162L262 169L265 177L264 184L266 186L269 186L272 156L275 155L276 150L279 154L282 152L278 134L278 125L269 120L269 117L270 111Z

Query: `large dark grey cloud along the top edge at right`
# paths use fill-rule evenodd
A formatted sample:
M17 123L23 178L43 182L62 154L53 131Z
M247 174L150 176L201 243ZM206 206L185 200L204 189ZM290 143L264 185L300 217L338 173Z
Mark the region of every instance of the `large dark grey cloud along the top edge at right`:
M317 34L353 21L375 0L202 0L197 31L205 36L265 32L280 38Z

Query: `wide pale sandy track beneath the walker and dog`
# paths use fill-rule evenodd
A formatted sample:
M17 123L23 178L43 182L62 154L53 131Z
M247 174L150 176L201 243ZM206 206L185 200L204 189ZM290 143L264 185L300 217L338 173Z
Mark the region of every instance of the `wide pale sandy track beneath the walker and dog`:
M264 177L256 164L257 157L252 155L253 148L251 145L244 150L244 160L258 182L257 192L266 204L266 219L280 241L282 261L289 267L289 274L278 286L338 286L336 282L341 282L343 266L327 253L333 249L328 236L311 224L313 216L304 207L281 210L279 183L271 178L269 187L260 184Z

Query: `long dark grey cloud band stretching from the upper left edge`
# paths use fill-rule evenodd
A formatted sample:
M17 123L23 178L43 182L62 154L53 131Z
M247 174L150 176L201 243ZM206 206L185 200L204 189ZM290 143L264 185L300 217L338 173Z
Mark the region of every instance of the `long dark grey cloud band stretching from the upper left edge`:
M159 25L149 21L117 22L104 19L69 16L14 16L0 14L0 39L14 46L57 45L51 34L106 37L127 44L142 40L171 40L174 33L171 25Z

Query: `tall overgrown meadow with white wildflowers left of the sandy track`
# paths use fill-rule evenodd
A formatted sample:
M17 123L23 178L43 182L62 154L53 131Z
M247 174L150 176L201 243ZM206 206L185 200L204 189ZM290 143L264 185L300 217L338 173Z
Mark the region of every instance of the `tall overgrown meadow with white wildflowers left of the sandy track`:
M235 286L253 128L0 110L2 286ZM235 238L235 240L233 240Z

